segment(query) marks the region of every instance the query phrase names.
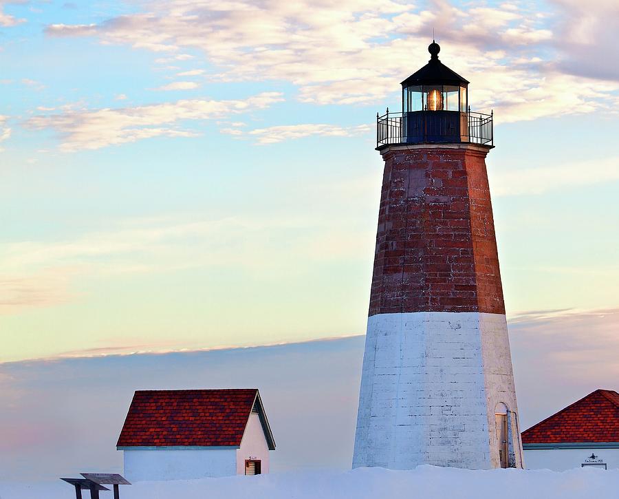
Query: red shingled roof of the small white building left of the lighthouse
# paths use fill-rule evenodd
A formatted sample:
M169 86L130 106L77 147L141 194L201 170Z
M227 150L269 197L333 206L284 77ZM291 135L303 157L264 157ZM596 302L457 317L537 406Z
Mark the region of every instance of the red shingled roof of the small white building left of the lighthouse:
M255 388L138 391L116 446L239 446L256 400L265 436L272 440Z

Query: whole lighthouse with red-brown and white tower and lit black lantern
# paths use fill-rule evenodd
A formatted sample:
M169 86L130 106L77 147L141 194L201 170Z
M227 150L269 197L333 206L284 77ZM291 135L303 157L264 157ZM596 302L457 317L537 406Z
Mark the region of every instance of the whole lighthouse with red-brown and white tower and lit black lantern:
M492 114L431 59L377 115L384 160L353 467L523 467L486 173Z

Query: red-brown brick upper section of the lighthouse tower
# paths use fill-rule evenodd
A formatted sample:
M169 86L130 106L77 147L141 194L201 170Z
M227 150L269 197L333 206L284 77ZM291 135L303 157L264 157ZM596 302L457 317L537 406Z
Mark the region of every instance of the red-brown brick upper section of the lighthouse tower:
M487 148L392 148L384 177L369 315L505 313Z

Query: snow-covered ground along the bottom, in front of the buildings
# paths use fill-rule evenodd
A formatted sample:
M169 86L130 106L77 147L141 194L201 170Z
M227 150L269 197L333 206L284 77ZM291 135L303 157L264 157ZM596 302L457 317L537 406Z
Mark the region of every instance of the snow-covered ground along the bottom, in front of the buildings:
M1 499L71 499L74 489L58 480L33 485L0 483ZM84 498L89 494L85 493ZM177 482L140 482L120 487L121 499L390 499L501 498L583 499L619 497L619 470L466 469L421 466L412 471L382 468L345 473L283 473ZM112 493L102 492L101 499Z

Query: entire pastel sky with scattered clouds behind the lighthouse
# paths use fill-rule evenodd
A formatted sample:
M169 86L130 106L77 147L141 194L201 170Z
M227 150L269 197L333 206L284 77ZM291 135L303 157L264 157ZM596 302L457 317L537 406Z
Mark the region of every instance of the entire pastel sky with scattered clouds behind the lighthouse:
M0 0L0 479L120 471L166 387L256 385L275 471L349 467L375 118L433 31L495 116L523 427L619 389L615 0Z

